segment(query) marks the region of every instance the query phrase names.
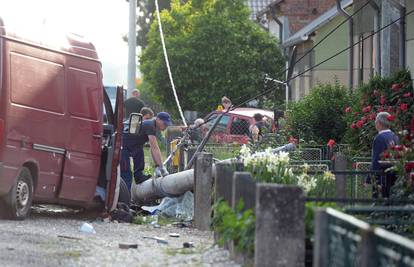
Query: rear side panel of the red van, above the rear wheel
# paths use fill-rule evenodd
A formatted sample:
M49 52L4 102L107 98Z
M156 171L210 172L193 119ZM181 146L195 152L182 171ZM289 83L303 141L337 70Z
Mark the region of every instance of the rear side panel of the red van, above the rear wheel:
M4 40L5 105L4 173L0 194L7 193L21 166L34 163L39 169L36 198L56 198L63 167L67 136L64 114L65 72L63 55L22 43ZM6 185L7 184L7 185Z

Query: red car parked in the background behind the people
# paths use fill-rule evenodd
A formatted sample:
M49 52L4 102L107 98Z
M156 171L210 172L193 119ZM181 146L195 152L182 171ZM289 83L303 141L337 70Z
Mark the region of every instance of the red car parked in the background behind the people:
M207 130L214 124L215 118L221 114L222 111L213 111L205 118ZM219 124L216 126L212 136L211 142L215 143L237 143L247 144L249 141L249 127L255 123L253 118L254 114L260 113L264 116L263 120L269 126L269 129L273 129L273 111L257 109L257 108L236 108L227 114L225 114Z

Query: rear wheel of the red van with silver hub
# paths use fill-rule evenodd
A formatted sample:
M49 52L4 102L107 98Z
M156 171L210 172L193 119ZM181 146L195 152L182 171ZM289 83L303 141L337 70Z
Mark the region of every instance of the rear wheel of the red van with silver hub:
M28 168L23 167L10 192L4 198L5 217L24 220L30 214L33 201L33 179Z

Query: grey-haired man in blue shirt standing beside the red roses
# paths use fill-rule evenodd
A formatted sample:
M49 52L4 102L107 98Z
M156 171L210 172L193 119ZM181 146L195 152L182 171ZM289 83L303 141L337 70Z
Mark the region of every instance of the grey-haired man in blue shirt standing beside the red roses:
M385 171L390 166L381 165L379 161L381 160L381 155L387 149L394 147L398 144L398 136L395 135L391 129L391 123L388 118L391 115L388 112L379 112L375 119L375 128L378 131L378 134L374 137L372 142L372 161L371 161L371 170L372 171ZM376 185L381 186L381 193L383 197L389 197L390 189L396 180L396 175L394 172L386 172L383 175L376 175ZM370 183L370 179L367 180L367 183ZM373 197L378 196L377 187L374 183Z

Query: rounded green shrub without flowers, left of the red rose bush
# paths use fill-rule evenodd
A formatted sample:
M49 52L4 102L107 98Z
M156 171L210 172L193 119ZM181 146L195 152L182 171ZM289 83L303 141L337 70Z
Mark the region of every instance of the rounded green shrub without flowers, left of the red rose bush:
M339 143L347 127L343 115L349 103L349 93L339 83L320 84L291 105L288 132L306 142L326 144L329 139L334 139Z

